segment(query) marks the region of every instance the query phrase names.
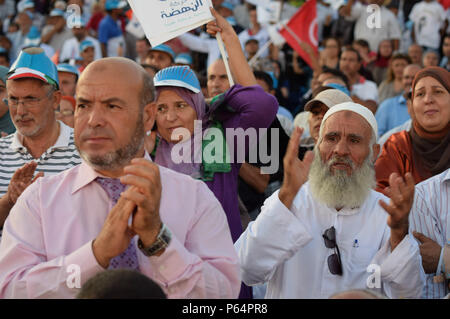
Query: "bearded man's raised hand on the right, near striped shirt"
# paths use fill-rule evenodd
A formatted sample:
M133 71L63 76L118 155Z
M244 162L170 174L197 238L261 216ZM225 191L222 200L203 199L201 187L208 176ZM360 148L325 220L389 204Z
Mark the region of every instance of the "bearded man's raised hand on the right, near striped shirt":
M406 173L405 180L397 173L392 173L385 193L390 198L389 204L382 200L379 203L389 214L387 224L391 228L392 251L408 233L408 217L414 202L414 179L411 173Z

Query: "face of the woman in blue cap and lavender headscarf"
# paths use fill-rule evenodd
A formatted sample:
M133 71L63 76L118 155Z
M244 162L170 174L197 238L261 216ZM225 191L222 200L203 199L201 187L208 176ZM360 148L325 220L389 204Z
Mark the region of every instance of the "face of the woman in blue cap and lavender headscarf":
M194 134L197 112L172 90L163 90L156 100L156 124L158 133L169 143L178 143ZM177 130L184 128L184 130ZM179 132L181 134L179 134ZM172 136L172 133L175 133Z

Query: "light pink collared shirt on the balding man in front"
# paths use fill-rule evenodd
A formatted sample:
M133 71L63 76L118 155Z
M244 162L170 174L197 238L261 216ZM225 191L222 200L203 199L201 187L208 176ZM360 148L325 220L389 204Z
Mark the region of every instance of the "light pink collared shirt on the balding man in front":
M160 215L172 241L159 257L137 249L140 271L169 298L236 298L239 261L219 201L203 182L161 166L159 171ZM97 176L82 162L39 178L20 196L0 244L1 298L73 298L104 271L92 241L112 202Z

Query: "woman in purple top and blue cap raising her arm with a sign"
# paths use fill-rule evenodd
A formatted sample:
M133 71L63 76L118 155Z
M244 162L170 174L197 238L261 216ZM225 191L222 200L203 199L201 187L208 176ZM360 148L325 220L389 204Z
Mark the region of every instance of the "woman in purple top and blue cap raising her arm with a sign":
M259 131L259 128L269 127L278 103L257 85L231 25L215 11L213 14L217 26L210 22L208 32L221 30L231 72L239 84L215 97L207 106L191 69L174 66L159 71L154 78L159 141L153 154L156 163L201 179L208 185L227 214L234 242L243 231L237 180L244 154L239 154L242 153L239 149L243 147L247 153L249 141L232 136L239 132L237 130L231 130L230 134L225 132L235 128ZM242 144L239 140L246 140L245 145L239 145ZM213 158L208 158L214 146L222 144L224 147L217 147ZM185 154L187 152L189 154Z

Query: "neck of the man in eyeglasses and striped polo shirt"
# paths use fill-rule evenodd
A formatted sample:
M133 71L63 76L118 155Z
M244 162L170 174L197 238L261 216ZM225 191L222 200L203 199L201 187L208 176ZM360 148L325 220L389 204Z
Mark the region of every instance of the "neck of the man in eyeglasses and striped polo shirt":
M24 136L23 146L25 146L28 152L33 158L39 158L45 151L51 146L55 145L58 140L60 132L60 125L56 119L52 121L52 124L37 136Z

